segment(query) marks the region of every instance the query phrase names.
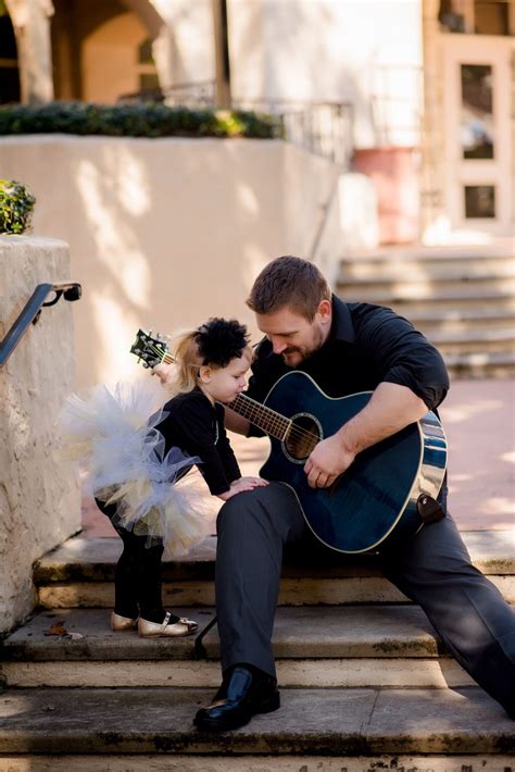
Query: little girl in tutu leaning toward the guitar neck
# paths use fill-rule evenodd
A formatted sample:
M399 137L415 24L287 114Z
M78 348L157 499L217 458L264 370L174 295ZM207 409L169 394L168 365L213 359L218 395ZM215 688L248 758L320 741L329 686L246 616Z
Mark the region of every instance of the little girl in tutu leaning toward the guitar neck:
M89 490L124 544L115 569L113 631L137 625L141 637L156 637L197 630L192 620L163 608L161 558L165 547L184 555L208 535L199 494L189 475L183 480L193 464L223 501L267 484L241 477L221 404L243 390L251 360L246 327L211 319L180 338L174 357L176 396L150 419L141 382L129 391L117 387L112 394L102 386L87 401L76 395L68 399L63 413L68 448L85 462ZM165 365L155 370L168 381Z

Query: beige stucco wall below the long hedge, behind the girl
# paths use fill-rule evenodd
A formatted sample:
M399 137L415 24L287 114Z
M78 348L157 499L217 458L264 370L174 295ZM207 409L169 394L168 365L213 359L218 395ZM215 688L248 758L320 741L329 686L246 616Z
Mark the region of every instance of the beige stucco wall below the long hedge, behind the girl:
M35 233L70 244L81 385L140 371L128 354L140 326L252 324L254 277L279 254L311 257L338 176L325 159L252 139L5 137L0 166L34 191ZM341 234L332 222L328 272Z

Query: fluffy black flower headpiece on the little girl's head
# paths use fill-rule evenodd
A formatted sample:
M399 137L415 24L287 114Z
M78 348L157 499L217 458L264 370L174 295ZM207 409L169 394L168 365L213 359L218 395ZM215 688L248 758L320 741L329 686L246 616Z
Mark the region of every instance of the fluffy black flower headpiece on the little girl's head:
M247 327L236 319L212 317L202 324L194 336L202 364L225 368L231 359L239 359L249 345Z

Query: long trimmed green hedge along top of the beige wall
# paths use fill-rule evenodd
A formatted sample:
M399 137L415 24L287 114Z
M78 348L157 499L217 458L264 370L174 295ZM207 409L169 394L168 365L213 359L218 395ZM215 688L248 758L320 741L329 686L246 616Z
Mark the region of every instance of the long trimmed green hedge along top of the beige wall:
M0 108L0 135L78 134L109 137L258 137L281 136L273 115L244 111L189 110L165 104L88 104L50 102Z

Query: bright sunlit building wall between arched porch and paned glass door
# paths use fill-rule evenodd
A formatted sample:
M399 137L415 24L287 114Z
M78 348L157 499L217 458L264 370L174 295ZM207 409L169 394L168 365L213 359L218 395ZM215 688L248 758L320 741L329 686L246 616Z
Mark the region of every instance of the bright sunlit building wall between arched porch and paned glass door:
M348 101L357 147L418 145L420 0L228 0L228 25L236 99Z

